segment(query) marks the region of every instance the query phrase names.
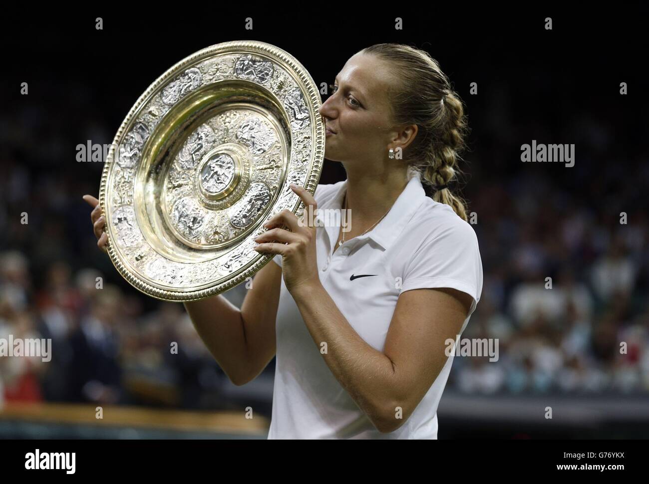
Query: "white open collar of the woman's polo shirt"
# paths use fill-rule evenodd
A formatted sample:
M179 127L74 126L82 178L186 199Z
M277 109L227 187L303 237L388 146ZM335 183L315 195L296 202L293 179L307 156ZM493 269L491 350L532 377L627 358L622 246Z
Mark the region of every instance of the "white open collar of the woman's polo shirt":
M345 191L347 191L347 180L340 184L334 198L328 204L319 208L341 210ZM356 240L372 239L387 250L393 245L401 232L403 232L406 224L410 222L410 219L415 215L415 212L417 212L417 209L419 209L425 198L426 192L421 184L419 171L410 169L408 171L408 184L406 184L406 188L398 196L387 215L372 230L367 232L367 234L356 237ZM324 229L329 237L329 247L332 248L338 240L340 224L337 226L325 226Z

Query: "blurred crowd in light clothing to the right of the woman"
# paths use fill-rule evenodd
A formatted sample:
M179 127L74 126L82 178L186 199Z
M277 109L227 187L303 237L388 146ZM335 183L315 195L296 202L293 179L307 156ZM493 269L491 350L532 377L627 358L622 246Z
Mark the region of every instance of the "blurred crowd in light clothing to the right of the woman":
M554 244L567 247L574 226L564 220L559 228ZM465 393L648 392L647 240L646 227L613 236L583 271L571 258L549 272L548 252L513 250L502 261L509 267L485 272L482 300L462 335L497 339L498 361L456 357L449 385ZM582 240L581 250L592 241Z

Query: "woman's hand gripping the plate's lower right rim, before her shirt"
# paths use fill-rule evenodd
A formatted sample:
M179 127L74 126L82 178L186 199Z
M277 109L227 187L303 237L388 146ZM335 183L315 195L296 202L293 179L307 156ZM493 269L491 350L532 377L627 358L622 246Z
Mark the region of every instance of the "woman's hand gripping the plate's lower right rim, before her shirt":
M291 189L304 202L304 223L290 210L282 210L263 225L269 230L254 239L259 243L254 250L282 255L284 284L293 294L293 291L320 284L320 276L315 251L316 228L308 224L309 210L315 217L317 203L306 189L295 185L291 185ZM288 226L290 231L281 228L282 225Z

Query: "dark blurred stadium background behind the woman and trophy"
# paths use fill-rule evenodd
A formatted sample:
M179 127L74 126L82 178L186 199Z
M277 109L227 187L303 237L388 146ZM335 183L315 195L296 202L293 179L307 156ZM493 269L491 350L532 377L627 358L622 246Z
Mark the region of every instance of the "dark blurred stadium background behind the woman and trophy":
M646 430L649 417L639 409L649 402L648 9L425 8L304 3L180 12L160 5L7 14L0 330L53 337L55 358L46 368L18 370L0 361L5 401L242 409L252 399L270 415L273 363L258 380L230 385L182 305L141 295L97 250L81 196L97 195L103 163L78 163L76 146L111 143L158 76L215 43L273 43L320 86L363 47L400 42L429 51L466 104L472 131L460 188L468 212L478 215L473 227L485 278L465 336L500 339L498 363L456 358L439 437L637 437ZM95 30L97 16L103 30ZM552 30L544 28L548 16ZM247 17L253 30L244 29ZM395 17L403 30L394 29ZM21 82L29 83L29 95L20 95ZM471 82L478 95L469 94ZM620 95L620 82L628 95ZM532 139L574 143L574 167L520 162L520 146ZM339 163L325 162L321 183L344 178ZM21 212L29 224L20 223ZM619 223L620 212L628 224ZM94 271L104 277L101 295L87 282ZM557 296L546 300L535 288L548 276ZM226 296L240 304L245 289ZM539 311L524 306L537 297ZM99 343L84 337L84 325L92 324L103 328ZM189 349L170 358L169 341ZM619 354L620 341L628 342L628 354ZM99 363L92 344L103 348ZM101 391L88 382L99 382ZM564 417L563 428L546 434L543 411L534 409L553 402L574 415L584 405L601 408L587 424ZM495 415L504 406L508 415L526 417ZM532 410L516 411L523 407ZM630 412L628 428L612 430Z

